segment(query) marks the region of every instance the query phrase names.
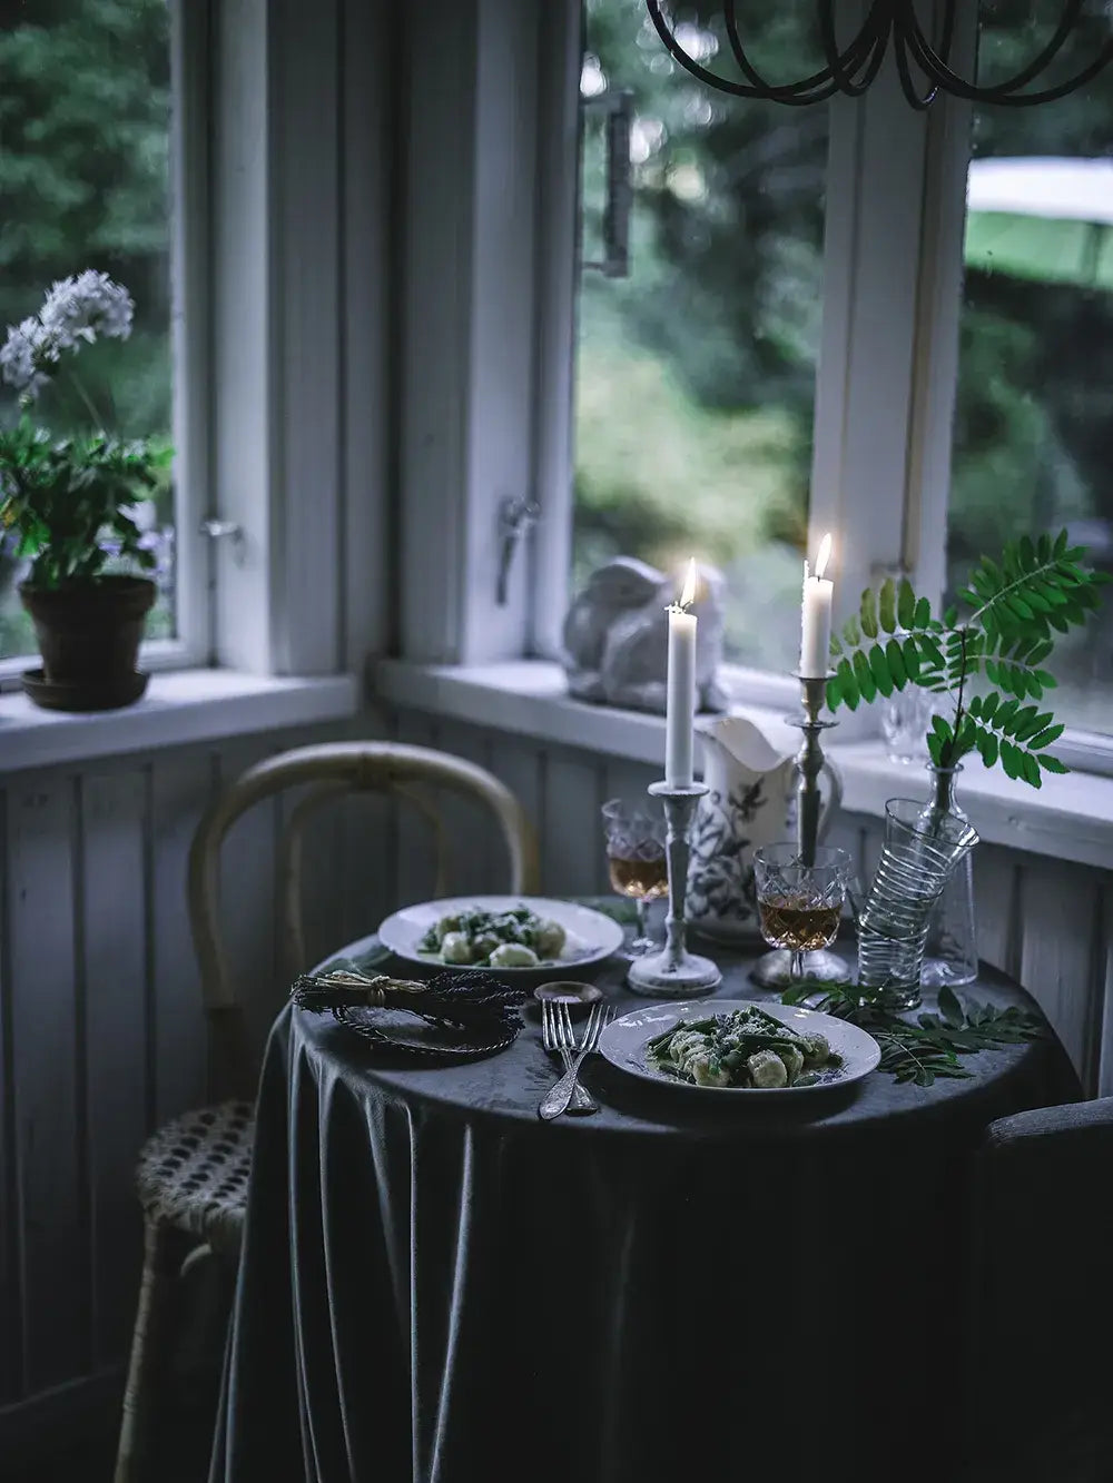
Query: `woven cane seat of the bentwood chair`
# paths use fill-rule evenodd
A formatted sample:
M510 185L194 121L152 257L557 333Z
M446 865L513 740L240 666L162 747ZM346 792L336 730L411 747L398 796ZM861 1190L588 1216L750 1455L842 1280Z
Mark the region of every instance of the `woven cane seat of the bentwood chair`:
M239 1252L254 1137L249 1102L220 1102L166 1123L144 1143L135 1170L147 1219L214 1252Z

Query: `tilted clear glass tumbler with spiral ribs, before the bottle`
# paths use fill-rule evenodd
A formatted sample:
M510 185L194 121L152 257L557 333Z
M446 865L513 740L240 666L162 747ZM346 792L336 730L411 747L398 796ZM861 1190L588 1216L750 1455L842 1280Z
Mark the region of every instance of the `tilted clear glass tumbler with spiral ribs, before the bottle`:
M932 909L978 835L969 820L926 810L914 798L884 805L884 848L858 912L858 989L893 1008L920 1003L923 946Z

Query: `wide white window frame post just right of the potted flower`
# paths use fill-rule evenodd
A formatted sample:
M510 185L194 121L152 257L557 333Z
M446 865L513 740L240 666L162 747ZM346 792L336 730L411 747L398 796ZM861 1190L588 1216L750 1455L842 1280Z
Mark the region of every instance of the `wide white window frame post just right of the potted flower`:
M169 4L178 636L141 664L353 672L390 623L395 22Z

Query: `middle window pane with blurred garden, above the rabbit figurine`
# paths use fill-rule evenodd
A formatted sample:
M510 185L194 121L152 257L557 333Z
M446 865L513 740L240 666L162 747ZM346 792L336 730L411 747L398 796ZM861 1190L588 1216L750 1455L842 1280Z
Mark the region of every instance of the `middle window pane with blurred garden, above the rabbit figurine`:
M712 19L718 10L720 19ZM684 46L736 76L721 4ZM757 65L818 61L816 7L738 6ZM644 0L589 0L582 252L603 257L604 116L632 93L629 276L585 267L576 357L574 586L617 555L727 577L727 653L791 669L800 650L827 105L714 92L665 52Z

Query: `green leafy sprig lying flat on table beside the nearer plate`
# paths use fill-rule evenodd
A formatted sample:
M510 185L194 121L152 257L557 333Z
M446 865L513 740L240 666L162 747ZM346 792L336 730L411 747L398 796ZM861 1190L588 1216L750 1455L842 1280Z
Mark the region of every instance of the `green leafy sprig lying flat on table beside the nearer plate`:
M968 1000L963 1007L954 989L948 988L939 989L938 1013L925 1011L914 1022L886 1004L884 994L864 1003L856 985L849 982L831 985L804 979L787 989L781 1003L801 1004L816 994L819 1000L809 1008L867 1031L881 1047L881 1071L917 1087L930 1087L936 1077L972 1077L960 1056L1017 1046L1046 1032L1042 1016L1031 1010L1015 1004L997 1008L976 1000Z

